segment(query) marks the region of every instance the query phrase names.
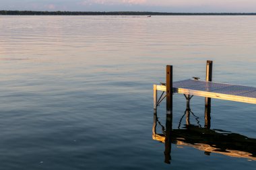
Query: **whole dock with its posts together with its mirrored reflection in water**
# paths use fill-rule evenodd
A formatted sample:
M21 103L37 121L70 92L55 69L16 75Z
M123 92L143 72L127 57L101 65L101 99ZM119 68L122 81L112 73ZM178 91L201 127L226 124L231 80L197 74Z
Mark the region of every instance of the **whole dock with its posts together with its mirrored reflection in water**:
M193 79L174 82L172 81L172 66L167 65L166 83L154 85L154 124L152 138L164 142L165 163L170 163L171 160L171 143L192 146L193 148L205 151L205 155L219 153L230 157L242 157L256 161L255 138L248 138L247 136L228 131L220 130L218 132L210 129L212 98L256 104L256 87L213 82L212 65L212 60L207 60L205 81L199 80L199 77L193 77ZM158 97L158 91L161 91L160 97ZM187 108L181 117L178 129L172 129L172 95L174 93L185 95L185 99L187 100ZM197 116L191 112L190 101L194 95L205 97L205 121L203 127L199 124ZM162 126L163 133L158 134L156 133L158 122L157 107L164 98L166 98L166 126L164 127L159 123ZM191 125L191 115L195 116L199 126ZM183 117L186 118L186 126L185 129L180 129Z

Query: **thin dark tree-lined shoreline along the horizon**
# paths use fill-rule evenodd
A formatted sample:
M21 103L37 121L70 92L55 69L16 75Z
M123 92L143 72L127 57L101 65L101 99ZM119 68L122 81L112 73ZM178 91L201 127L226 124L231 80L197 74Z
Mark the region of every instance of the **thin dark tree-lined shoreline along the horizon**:
M0 15L256 15L256 13L168 13L148 11L6 11L1 10Z

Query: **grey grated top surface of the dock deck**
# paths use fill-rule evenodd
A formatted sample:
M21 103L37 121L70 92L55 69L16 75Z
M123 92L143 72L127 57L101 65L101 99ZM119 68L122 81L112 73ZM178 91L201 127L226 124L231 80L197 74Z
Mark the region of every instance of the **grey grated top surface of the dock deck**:
M256 98L256 87L243 85L230 85L226 83L215 83L209 81L184 80L173 83L174 88L183 88L196 91L207 91L213 93L222 93L226 95L238 95L243 97Z

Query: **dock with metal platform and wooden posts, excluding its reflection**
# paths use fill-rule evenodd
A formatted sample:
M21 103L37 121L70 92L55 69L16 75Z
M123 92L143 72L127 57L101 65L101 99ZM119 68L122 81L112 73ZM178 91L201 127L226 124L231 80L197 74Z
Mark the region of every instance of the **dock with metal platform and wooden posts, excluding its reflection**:
M205 81L199 80L199 77L193 77L194 79L176 82L172 82L172 66L167 65L166 83L154 85L154 110L156 111L157 106L166 97L166 112L172 114L173 93L184 94L188 104L194 95L205 97L205 107L210 107L212 98L256 104L256 87L213 82L212 64L212 60L207 60ZM162 91L159 99L158 91Z

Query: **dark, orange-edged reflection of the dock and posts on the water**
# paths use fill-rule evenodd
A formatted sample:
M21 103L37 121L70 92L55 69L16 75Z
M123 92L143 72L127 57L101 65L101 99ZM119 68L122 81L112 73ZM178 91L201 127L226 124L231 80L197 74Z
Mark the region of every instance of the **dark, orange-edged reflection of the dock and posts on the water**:
M205 126L190 124L191 112L189 105L182 116L186 118L185 127L180 129L181 120L177 129L172 129L172 114L166 114L166 126L158 121L157 112L154 112L154 124L152 128L152 138L165 144L164 162L170 164L171 160L171 143L191 146L205 152L218 153L229 157L240 157L256 161L256 139L248 138L241 134L228 132L225 130L210 129L210 112L205 110ZM194 115L195 116L195 115ZM195 116L197 120L197 116ZM162 127L162 134L156 132L156 126Z

